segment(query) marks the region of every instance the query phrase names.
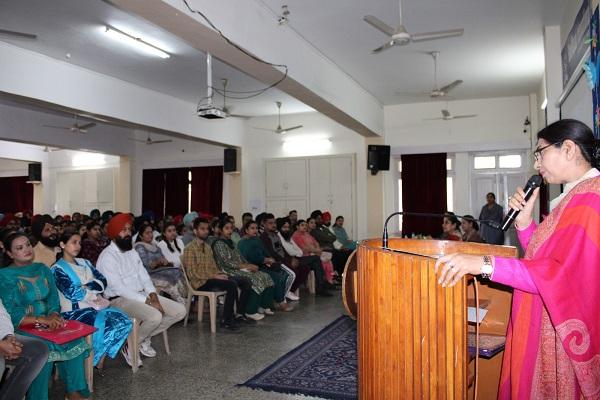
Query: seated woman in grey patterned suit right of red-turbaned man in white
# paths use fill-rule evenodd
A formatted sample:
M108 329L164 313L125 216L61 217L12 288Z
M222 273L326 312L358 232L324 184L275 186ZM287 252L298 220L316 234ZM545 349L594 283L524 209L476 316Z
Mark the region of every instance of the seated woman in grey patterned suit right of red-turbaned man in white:
M154 287L168 294L176 302L185 304L186 291L182 282L181 269L165 258L154 241L151 225L145 224L140 228L135 251L138 252Z

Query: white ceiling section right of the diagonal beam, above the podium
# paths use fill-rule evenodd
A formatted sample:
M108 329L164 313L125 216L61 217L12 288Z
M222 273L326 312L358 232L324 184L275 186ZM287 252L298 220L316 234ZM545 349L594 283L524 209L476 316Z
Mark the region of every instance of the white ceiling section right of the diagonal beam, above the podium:
M457 99L526 95L537 92L544 69L543 26L556 25L565 0L403 0L409 33L464 28L462 37L371 50L386 36L364 21L374 15L398 25L397 0L255 0L290 11L291 29L311 42L383 104L417 102L396 91L422 92L433 86L433 61L439 50L438 82L464 83ZM422 99L426 99L423 97Z

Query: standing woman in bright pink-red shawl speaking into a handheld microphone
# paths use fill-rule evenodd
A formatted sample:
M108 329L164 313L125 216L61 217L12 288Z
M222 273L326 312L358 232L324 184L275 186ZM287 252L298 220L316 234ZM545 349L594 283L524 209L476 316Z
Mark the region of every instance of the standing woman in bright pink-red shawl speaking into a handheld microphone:
M598 399L600 147L585 124L562 120L538 133L534 156L544 180L565 189L539 226L532 218L539 189L527 202L521 188L511 197L525 257L451 254L436 272L442 286L485 273L514 288L500 399Z

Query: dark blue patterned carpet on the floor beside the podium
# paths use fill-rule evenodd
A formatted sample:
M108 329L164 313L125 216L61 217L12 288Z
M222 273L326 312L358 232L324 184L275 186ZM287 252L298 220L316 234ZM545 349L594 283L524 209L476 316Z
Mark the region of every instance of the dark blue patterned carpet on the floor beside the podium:
M357 398L356 321L342 316L243 386L333 400Z

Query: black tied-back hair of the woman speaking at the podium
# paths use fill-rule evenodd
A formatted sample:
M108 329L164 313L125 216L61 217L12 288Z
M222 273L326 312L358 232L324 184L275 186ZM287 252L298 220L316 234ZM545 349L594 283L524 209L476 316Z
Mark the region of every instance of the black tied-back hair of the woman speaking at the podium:
M538 132L538 139L560 146L565 140L575 142L581 149L583 158L592 167L600 166L600 142L594 137L592 130L576 119L561 119Z

